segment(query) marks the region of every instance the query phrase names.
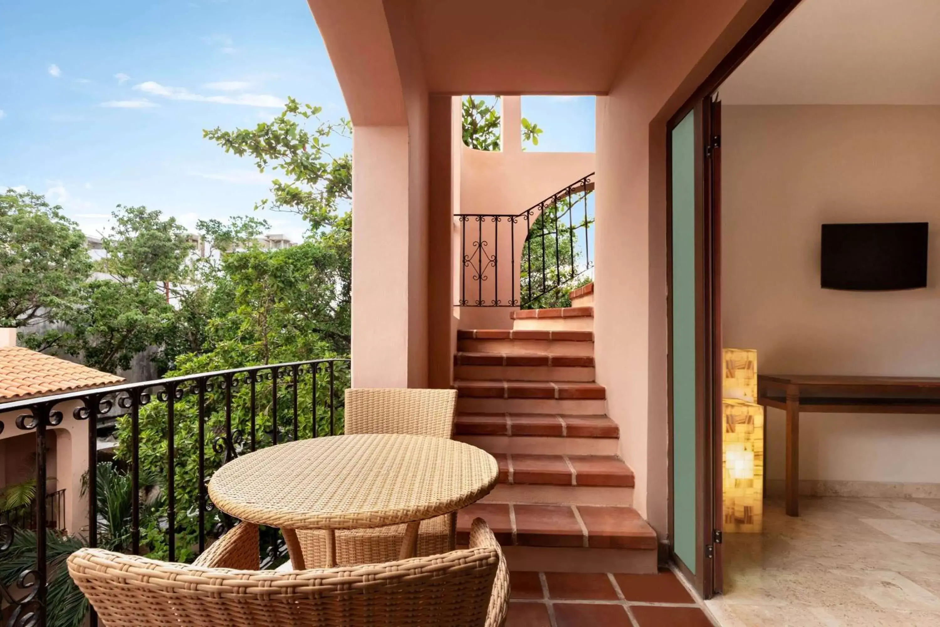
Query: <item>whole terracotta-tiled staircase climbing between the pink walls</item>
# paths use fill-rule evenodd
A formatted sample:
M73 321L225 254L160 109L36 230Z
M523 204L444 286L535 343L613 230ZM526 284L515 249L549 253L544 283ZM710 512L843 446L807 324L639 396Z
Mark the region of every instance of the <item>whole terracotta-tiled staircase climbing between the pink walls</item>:
M458 332L456 438L499 462L499 483L458 515L480 516L516 571L656 572L656 535L594 382L593 286L572 307L512 312L513 328ZM599 570L600 569L600 570Z

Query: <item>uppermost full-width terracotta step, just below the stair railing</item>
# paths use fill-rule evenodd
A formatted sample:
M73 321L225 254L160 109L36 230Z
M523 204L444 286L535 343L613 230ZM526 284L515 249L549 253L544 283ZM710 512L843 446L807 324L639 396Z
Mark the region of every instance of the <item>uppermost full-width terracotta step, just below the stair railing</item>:
M462 353L592 356L593 340L594 334L590 331L462 329L457 332L457 350Z

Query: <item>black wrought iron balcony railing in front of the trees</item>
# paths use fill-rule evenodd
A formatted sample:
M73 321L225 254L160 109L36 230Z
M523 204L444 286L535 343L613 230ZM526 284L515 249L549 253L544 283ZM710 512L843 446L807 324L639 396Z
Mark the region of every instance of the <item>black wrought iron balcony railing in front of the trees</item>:
M61 425L69 412L72 419L86 422L88 449L84 480L87 526L81 533L70 529L71 535L89 546L103 543L135 554L155 552L172 561L195 557L233 522L211 504L206 489L211 474L243 451L340 433L341 391L348 381L348 359L318 359L9 402L0 404L0 415L18 416L14 428L35 434L36 521L47 520L48 497L52 496L45 488L47 434ZM121 519L129 530L124 535L113 528L115 520L108 520L114 515L111 506L99 507L106 494L99 494L97 420L116 406L127 415L118 418L118 462L106 464L105 469L108 475L114 469L129 479L130 511ZM150 516L150 526L148 537L143 539L145 514ZM262 564L271 565L284 555L284 543L276 530L266 532L258 551L264 556ZM26 533L21 526L0 524L0 564L16 549L19 533ZM48 534L33 535L34 566L13 583L0 581L0 605L8 627L46 625L50 609L47 582L55 579L55 573L49 572L47 564ZM149 551L142 550L145 548ZM63 568L61 563L57 568ZM93 612L91 624L97 624Z

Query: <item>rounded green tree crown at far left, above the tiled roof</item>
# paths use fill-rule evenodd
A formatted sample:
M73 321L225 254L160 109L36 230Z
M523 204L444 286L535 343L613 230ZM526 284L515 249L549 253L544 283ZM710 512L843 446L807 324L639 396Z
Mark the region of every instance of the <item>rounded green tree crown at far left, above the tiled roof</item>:
M81 303L85 235L43 196L0 193L0 326L55 321Z

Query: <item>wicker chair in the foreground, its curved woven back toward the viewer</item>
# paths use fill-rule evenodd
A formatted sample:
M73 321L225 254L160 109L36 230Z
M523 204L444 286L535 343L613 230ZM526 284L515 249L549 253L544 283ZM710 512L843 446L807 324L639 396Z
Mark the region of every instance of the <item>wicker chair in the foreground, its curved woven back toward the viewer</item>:
M257 532L237 525L212 559L257 563ZM467 549L384 564L282 573L85 548L69 572L108 627L501 627L509 603L505 559L481 519Z

